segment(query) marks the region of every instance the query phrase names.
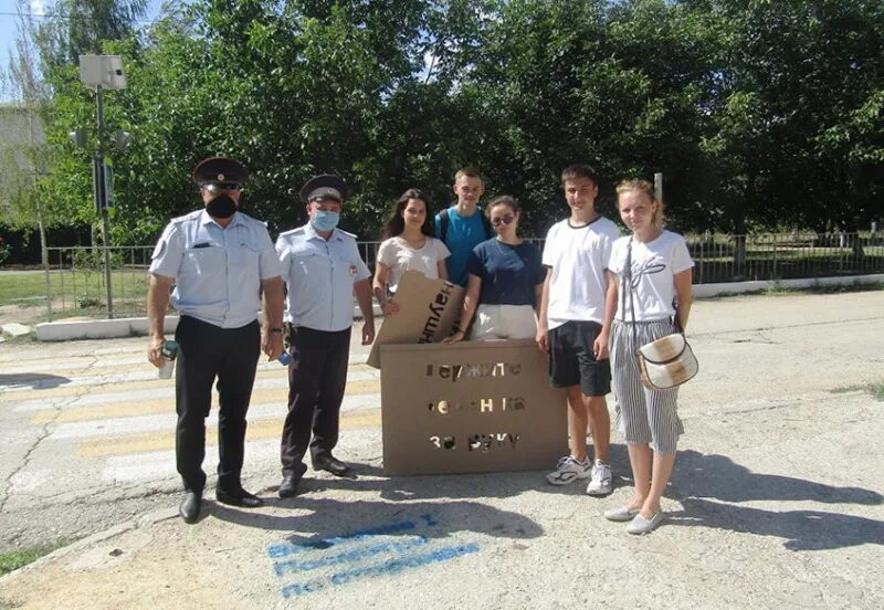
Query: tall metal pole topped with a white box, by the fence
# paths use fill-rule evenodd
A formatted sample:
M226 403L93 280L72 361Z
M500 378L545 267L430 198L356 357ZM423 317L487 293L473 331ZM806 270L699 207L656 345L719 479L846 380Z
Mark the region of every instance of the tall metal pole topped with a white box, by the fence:
M110 292L110 227L107 209L113 196L110 192L110 171L104 159L104 106L102 104L103 90L126 88L126 74L123 72L123 57L120 55L80 55L80 81L90 88L95 90L95 101L98 106L98 148L93 158L93 191L95 194L95 209L102 215L102 239L104 241L104 278L107 297L107 317L114 317L114 306ZM72 139L77 144L82 138L72 132ZM128 135L128 134L127 134Z

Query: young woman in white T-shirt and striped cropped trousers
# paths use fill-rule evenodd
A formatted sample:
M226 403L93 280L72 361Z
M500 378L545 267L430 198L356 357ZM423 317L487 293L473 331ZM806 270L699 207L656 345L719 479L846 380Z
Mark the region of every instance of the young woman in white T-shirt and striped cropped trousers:
M645 534L663 520L660 498L675 463L684 432L678 419L678 389L650 390L642 385L636 349L687 326L694 262L684 238L663 229L663 203L645 180L617 187L620 218L632 231L611 250L607 316L611 330L611 374L618 416L622 418L635 490L622 507L604 513L629 522L627 532ZM653 442L653 452L651 443Z

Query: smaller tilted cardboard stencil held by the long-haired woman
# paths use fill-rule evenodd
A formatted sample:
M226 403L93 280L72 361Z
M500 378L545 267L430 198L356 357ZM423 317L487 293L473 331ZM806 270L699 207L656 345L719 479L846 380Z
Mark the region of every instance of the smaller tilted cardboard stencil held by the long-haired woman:
M461 315L463 288L444 280L429 280L419 271L407 271L391 301L400 309L385 316L368 356L370 367L380 367L383 345L438 343L451 335Z

